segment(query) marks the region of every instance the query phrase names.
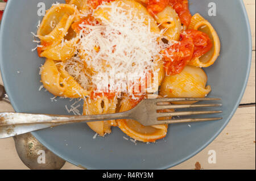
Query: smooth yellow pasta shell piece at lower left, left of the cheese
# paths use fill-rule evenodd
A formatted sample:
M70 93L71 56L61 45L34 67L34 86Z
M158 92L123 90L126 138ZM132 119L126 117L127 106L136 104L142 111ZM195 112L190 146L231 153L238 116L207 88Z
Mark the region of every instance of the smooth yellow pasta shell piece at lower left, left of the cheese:
M60 78L60 73L55 62L51 59L47 59L41 70L41 81L44 88L55 96L63 96L65 88L61 86L63 80Z

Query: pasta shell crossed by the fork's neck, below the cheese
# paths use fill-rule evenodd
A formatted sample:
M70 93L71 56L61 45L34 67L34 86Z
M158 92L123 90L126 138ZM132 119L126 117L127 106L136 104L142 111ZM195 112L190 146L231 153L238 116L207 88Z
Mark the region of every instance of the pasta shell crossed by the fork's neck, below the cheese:
M102 103L104 106L102 107ZM100 98L91 99L86 98L84 102L84 115L96 115L103 113L115 113L117 105L117 98L108 99L105 96ZM109 121L95 121L87 123L88 126L100 136L104 136L106 133L111 133L111 127L116 126L115 120Z

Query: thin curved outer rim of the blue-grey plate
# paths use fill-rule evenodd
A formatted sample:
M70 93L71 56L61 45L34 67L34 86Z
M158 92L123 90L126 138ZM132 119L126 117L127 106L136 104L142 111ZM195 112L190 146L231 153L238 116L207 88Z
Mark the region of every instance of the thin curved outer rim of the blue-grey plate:
M9 10L10 8L10 4L11 2L14 0L9 0L7 2L6 8L5 8L5 12ZM249 75L250 75L250 68L251 68L251 58L252 58L252 37L251 37L251 27L250 27L250 21L249 21L249 16L247 14L246 8L245 8L245 4L243 3L243 0L237 0L240 2L240 6L242 7L242 14L245 16L245 23L246 23L246 30L247 30L247 39L249 39L248 44L249 44L249 49L248 49L248 53L249 53L249 64L247 65L247 71L246 71L246 78L245 78L245 82L243 83L243 87L242 87L242 91L240 92L240 96L237 99L237 102L232 110L232 112L230 113L230 115L228 116L228 119L226 119L225 123L222 125L222 127L204 144L201 145L199 149L197 149L196 151L193 151L193 153L189 154L187 157L184 157L183 159L180 159L179 161L175 162L175 163L170 163L166 166L162 166L162 167L156 167L155 169L169 169L171 167L174 167L176 165L179 165L180 163L183 163L184 161L187 161L189 158L192 158L194 155L198 154L201 150L205 149L222 131L223 129L226 127L226 125L229 123L230 119L232 119L232 117L234 116L234 113L236 112L238 106L241 103L241 99L243 97L243 95L245 94L245 89L249 80ZM1 24L5 24L6 23L6 13L3 13L3 17L2 17L2 22ZM0 26L1 27L1 26ZM3 28L0 28L0 41L2 40L3 37ZM7 77L5 76L5 74L3 73L3 68L1 66L3 58L1 55L2 52L2 47L1 47L1 43L0 43L0 70L1 70L1 75L2 75L2 80L3 80L3 85L7 85L6 82L7 81ZM19 110L18 107L16 107L15 104L15 100L13 100L12 96L10 94L8 94L9 91L9 87L6 86L5 90L7 92L7 95L9 95L9 99L11 102L11 105L13 106L14 110L17 111ZM17 111L18 112L18 111ZM79 165L79 163L77 163L76 161L73 161L69 158L65 158L60 151L55 150L55 148L53 148L52 146L48 145L47 142L41 140L40 136L36 133L36 132L31 132L33 136L35 136L35 138L40 141L44 146L46 146L47 149L51 150L54 154L58 155L60 158L63 158L65 161L72 163L73 165L76 165L78 167L82 167L81 165ZM84 164L86 165L86 163ZM86 166L86 169L97 169L97 168L93 168L90 166Z

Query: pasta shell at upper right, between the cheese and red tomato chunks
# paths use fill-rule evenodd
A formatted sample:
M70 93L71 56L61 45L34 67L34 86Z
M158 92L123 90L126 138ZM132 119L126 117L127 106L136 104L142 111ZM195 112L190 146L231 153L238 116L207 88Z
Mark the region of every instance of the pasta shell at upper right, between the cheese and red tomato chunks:
M172 9L171 6L167 6L162 12L159 12L156 17L156 22L161 24L160 27L167 29L164 31L164 36L166 36L168 40L179 40L181 22L175 10Z

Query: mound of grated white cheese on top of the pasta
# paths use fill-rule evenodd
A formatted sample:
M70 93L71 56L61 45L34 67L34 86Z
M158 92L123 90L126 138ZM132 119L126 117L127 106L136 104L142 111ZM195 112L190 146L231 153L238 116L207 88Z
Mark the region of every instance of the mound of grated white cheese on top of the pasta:
M162 57L162 44L158 41L162 33L151 32L150 19L146 20L143 15L131 15L130 10L123 9L117 2L102 3L98 8L110 9L109 20L100 17L101 24L80 24L80 40L75 45L79 56L63 64L84 89L102 87L102 83L109 82L110 92L115 92L119 87L126 89L127 86L123 85L127 85L130 75L139 79L143 77L142 74L152 72L152 60ZM84 62L92 69L91 74L80 69L79 64ZM119 74L125 76L112 79Z

